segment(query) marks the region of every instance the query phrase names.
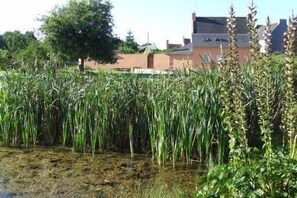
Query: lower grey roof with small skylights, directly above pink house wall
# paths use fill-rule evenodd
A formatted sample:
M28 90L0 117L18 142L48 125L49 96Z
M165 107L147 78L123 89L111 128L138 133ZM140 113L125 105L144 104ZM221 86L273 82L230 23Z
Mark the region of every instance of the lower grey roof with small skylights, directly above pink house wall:
M194 47L227 47L229 45L229 34L193 34ZM249 35L237 34L237 46L248 47Z

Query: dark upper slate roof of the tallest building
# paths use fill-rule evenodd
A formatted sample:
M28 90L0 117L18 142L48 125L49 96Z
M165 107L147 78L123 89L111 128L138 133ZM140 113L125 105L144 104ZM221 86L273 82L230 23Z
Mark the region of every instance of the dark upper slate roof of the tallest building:
M227 34L227 17L196 17L194 34ZM248 34L246 17L236 17L237 34Z

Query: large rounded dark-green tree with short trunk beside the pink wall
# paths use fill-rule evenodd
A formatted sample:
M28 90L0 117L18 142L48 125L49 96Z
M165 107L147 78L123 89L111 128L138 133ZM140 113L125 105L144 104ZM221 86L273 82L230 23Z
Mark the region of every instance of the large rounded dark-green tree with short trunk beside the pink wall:
M113 63L117 39L112 33L112 5L101 0L70 0L43 18L41 30L55 53L84 60Z

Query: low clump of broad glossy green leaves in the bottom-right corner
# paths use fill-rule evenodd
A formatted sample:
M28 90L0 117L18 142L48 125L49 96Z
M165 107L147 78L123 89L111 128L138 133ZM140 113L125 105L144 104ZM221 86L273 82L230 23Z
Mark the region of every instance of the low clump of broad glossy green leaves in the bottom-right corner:
M295 197L296 159L282 152L272 156L253 151L249 159L216 166L199 179L196 197Z

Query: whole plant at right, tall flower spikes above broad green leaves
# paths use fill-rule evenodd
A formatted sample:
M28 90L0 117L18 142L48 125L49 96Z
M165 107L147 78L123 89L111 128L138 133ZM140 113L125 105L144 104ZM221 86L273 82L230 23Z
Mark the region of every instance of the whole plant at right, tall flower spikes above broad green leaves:
M224 112L224 124L229 129L230 155L241 155L241 158L235 158L236 160L228 164L216 166L210 170L208 175L198 182L197 197L296 197L297 194L294 22L290 19L285 36L286 56L284 57L270 54L271 25L269 18L267 19L263 35L265 53L262 55L259 53L255 26L256 10L253 3L249 8L248 27L252 60L243 70L243 80L236 81L243 83L248 89L243 92L243 98L240 98L240 94L234 94L234 97L230 98L228 97L228 94L232 94L230 90L236 93L236 88L240 85L232 84L231 80L224 79L224 77L230 76L229 78L232 79L232 76L237 76L237 73L232 70L232 62L237 62L236 46L233 43L235 42L234 32L230 31L232 27L235 27L235 25L232 26L234 14L232 7L228 21L231 63L223 60L221 65L223 78L220 82L223 109L226 111ZM236 105L236 101L238 104L241 101L244 105ZM260 130L262 140L262 147L258 147L260 150L249 147L251 139L249 139L249 145L235 147L234 142L244 141L245 137L236 136L236 133L230 130L243 131L241 127L243 125L232 125L232 121L240 123L236 120L236 116L232 117L234 109L237 110L235 112L238 112L241 119L245 117L240 113L241 111L249 113L247 126L250 126L251 135L258 135L257 132ZM279 134L280 131L281 136L273 140L273 136ZM277 140L280 137L283 137L283 141ZM277 152L278 150L282 152Z

